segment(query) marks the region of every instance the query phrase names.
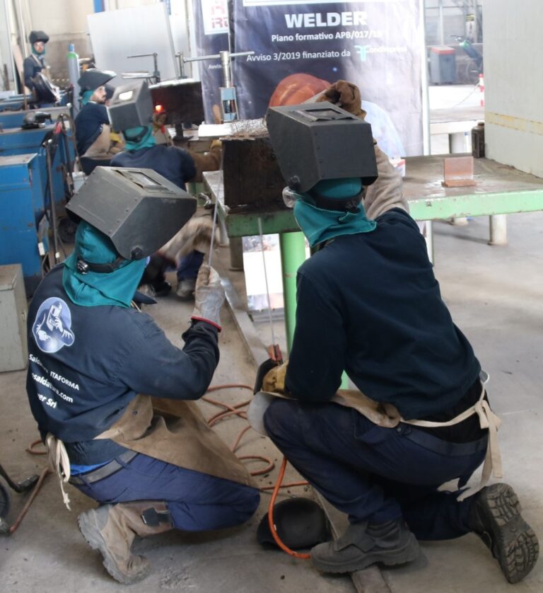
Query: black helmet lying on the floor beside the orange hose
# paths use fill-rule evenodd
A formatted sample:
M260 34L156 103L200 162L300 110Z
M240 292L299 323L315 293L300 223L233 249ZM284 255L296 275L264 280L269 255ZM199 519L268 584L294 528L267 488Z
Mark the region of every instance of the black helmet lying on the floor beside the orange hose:
M293 550L313 548L332 537L325 512L310 498L288 498L278 502L274 506L274 524L279 539ZM257 540L263 545L277 545L269 529L267 513L258 526Z

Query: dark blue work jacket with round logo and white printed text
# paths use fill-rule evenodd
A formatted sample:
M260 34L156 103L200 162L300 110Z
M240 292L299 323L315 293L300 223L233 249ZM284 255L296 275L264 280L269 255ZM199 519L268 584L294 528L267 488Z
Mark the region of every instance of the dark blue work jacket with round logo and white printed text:
M28 399L42 437L62 439L71 463L99 464L119 446L91 439L138 393L184 400L204 394L218 364L217 330L192 323L181 350L137 309L74 304L62 287L63 269L49 272L30 303Z

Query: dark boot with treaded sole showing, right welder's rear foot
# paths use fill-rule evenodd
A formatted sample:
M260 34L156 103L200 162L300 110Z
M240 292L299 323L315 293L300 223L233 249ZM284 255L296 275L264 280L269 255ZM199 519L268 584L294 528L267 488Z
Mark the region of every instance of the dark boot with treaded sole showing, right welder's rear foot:
M468 521L509 582L519 582L534 568L539 543L522 519L520 502L510 485L492 484L474 495Z

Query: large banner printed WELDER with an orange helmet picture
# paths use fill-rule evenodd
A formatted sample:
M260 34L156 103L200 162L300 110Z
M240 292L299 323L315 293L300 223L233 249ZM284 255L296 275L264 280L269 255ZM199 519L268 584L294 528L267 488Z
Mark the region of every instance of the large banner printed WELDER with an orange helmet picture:
M419 0L234 0L233 79L240 116L301 103L343 79L360 88L388 156L422 154Z

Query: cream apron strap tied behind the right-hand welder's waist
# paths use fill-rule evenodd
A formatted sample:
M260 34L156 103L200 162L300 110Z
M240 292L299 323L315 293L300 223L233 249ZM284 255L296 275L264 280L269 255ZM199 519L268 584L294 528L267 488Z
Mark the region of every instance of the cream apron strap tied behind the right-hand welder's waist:
M462 420L466 420L466 418L469 418L474 414L479 416L479 425L481 425L481 428L488 428L489 430L489 446L486 448L486 456L484 457L483 471L479 485L477 487L470 486L464 490L462 494L457 497L457 500L464 500L465 498L479 492L479 490L481 490L481 488L483 488L484 485L488 483L491 475L493 475L494 478L503 478L501 453L500 447L498 445L498 428L501 426L501 420L490 409L488 401L484 399L484 382L481 381L481 396L479 397L479 400L474 405L472 405L471 408L467 408L467 410L457 415L455 418L452 418L452 420L448 420L448 422L430 422L429 420L402 419L402 422L405 424L427 428L438 428L458 424L458 422L462 422Z

